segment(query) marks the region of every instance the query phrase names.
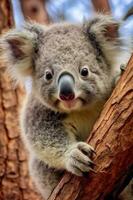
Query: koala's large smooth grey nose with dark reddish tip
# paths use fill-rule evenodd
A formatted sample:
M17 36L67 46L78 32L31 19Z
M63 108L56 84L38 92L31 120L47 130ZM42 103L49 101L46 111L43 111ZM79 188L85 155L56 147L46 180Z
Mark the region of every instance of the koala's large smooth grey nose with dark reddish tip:
M59 97L63 101L74 99L74 78L72 75L65 73L59 77Z

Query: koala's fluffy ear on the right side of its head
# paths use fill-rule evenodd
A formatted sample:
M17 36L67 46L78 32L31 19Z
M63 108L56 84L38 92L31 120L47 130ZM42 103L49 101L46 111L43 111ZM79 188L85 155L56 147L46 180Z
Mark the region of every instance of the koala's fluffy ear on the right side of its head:
M113 63L121 46L119 38L120 22L109 15L97 15L85 23L85 32L98 56L104 54L109 63Z

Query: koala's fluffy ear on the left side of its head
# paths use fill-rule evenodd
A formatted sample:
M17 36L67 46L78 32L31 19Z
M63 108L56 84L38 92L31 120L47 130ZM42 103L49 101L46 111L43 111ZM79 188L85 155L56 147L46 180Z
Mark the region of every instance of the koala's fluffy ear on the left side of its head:
M0 58L6 62L13 78L20 80L32 76L37 37L33 28L30 31L25 27L21 31L11 30L0 38Z

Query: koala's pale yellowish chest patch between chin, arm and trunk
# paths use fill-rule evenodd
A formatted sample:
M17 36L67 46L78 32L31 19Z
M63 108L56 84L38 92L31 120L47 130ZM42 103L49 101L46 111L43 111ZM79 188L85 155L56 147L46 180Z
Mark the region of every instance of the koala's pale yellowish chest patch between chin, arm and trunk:
M77 139L84 141L87 139L97 116L97 112L90 111L71 113L64 120L63 124L69 134L73 133Z

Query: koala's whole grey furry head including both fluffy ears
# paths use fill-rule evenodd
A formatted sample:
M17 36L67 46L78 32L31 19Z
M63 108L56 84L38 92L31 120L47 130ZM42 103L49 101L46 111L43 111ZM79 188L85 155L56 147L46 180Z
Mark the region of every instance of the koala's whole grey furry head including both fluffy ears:
M98 15L84 25L27 24L0 41L11 75L32 78L32 94L58 111L72 111L108 97L119 51L119 24Z

